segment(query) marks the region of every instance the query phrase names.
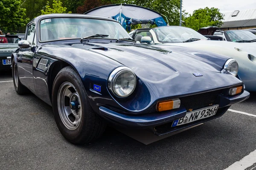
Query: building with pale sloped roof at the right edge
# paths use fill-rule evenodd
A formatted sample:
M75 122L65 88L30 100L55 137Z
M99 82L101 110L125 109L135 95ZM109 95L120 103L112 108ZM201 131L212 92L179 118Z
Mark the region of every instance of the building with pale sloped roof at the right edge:
M256 28L256 9L237 10L223 13L222 30Z

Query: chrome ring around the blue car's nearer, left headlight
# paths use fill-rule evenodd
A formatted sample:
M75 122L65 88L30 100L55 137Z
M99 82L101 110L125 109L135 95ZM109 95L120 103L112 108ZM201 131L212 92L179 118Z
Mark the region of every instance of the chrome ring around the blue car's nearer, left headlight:
M115 92L115 89L114 89L114 82L115 82L116 78L117 78L121 73L127 72L127 71L134 75L135 85L134 85L133 90L132 90L129 94L127 94L127 95L125 95L125 96L120 96L119 94L117 94L117 93ZM108 78L108 89L109 89L116 97L118 97L118 98L125 98L125 97L130 96L130 95L134 92L134 90L135 90L135 88L136 88L136 85L137 85L137 78L136 78L136 75L134 74L134 72L133 72L130 68L125 67L125 66L118 67L118 68L116 68L115 70L113 70L112 73L110 74L109 78Z

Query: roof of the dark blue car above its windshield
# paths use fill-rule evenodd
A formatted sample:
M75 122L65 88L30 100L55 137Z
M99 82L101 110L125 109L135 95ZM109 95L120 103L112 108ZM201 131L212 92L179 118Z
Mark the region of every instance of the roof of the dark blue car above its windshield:
M74 18L93 18L93 19L102 19L102 20L111 20L118 22L116 20L113 20L112 18L107 18L107 17L99 17L99 16L93 16L93 15L86 15L86 14L45 14L45 15L40 15L38 17L35 17L31 21L36 21L38 22L41 19L44 18L52 18L52 17L74 17ZM30 22L31 22L30 21Z

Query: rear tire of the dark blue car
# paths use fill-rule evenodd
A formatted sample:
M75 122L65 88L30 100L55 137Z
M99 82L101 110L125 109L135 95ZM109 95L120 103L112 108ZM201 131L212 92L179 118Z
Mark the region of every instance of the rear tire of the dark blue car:
M14 88L15 88L15 91L17 92L17 94L27 94L27 93L29 93L29 89L27 89L20 82L17 65L16 65L14 59L12 60L12 79L13 79Z

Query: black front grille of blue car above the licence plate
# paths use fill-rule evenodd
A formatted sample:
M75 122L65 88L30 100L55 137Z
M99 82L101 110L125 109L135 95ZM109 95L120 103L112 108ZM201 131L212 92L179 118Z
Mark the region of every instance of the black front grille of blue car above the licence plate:
M184 106L188 112L195 111L201 108L206 108L211 105L218 104L216 102L216 98L219 94L222 93L222 91L223 90L216 90L191 96L180 97L180 105Z

